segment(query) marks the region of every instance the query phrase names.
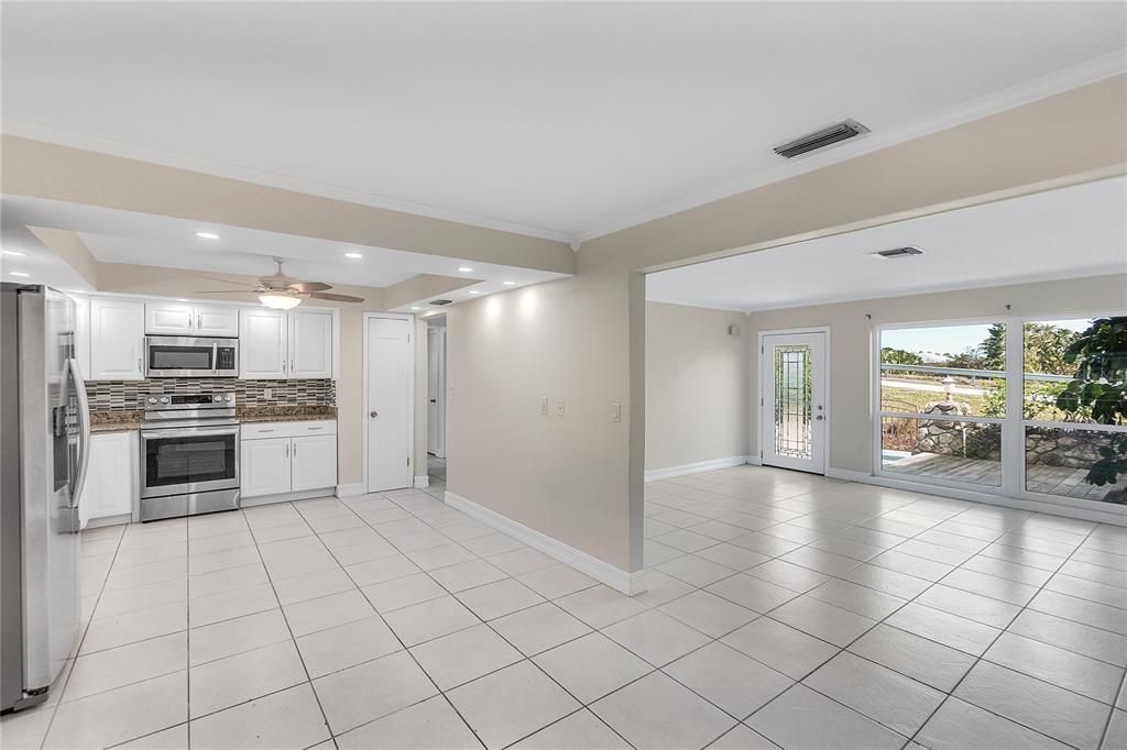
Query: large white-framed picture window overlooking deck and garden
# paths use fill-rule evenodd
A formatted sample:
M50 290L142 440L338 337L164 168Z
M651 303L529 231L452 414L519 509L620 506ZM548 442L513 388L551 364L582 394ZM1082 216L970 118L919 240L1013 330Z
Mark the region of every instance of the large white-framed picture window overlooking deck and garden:
M1127 503L1127 318L876 333L878 474L1063 505Z

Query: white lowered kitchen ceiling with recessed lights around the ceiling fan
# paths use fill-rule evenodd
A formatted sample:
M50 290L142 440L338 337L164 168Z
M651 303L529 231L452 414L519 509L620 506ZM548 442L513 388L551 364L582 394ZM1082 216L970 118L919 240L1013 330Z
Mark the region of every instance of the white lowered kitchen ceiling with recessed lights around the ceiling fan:
M95 206L81 206L57 200L3 196L5 250L24 252L8 256L6 273L28 273L29 282L71 288L73 276L59 276L60 265L48 249L24 230L46 226L79 233L90 253L101 262L136 264L161 268L197 270L211 275L238 274L267 276L275 270L273 256L286 260L287 276L329 284L382 287L397 284L417 274L454 276L474 279L477 284L461 289L468 294L488 294L556 278L553 274L498 264L467 262L460 258L432 256L370 245L346 244L316 238L264 232L240 226L201 225L169 216L154 216ZM219 234L218 240L196 236L197 231ZM362 258L348 258L346 252L360 252ZM461 273L470 267L470 273Z

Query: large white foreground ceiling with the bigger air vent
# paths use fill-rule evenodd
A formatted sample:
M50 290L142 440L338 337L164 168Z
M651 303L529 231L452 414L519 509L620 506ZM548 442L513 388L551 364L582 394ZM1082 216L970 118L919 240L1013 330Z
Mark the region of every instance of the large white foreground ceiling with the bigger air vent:
M777 179L772 144L844 117L877 144L1121 70L1125 28L1120 2L9 2L0 82L9 133L566 239Z

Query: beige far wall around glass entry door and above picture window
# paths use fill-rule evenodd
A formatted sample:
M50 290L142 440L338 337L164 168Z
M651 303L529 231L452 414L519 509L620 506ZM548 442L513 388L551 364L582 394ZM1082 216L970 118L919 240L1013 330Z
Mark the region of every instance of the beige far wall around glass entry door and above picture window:
M1005 305L1011 305L1006 311ZM872 470L872 332L884 323L995 319L1006 315L1076 315L1127 311L1127 275L1076 278L1039 284L994 286L962 292L920 294L813 307L753 313L748 328L757 331L826 325L829 328L829 456L833 468ZM866 315L872 315L868 320ZM754 351L753 351L754 358ZM755 367L751 393L758 393ZM758 452L753 400L749 430Z

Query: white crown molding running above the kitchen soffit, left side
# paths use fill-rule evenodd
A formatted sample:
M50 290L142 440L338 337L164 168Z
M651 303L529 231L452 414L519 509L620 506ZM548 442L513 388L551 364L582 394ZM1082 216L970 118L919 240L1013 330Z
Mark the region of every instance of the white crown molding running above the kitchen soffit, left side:
M254 182L256 185L265 185L267 187L275 187L283 190L293 190L294 193L316 195L322 198L345 200L363 206L371 206L373 208L384 208L416 216L426 216L428 218L438 218L447 222L456 222L459 224L469 224L471 226L480 226L482 229L507 232L509 234L523 234L525 236L534 236L541 240L562 242L568 245L574 245L576 243L576 239L571 234L556 232L553 230L547 230L539 226L529 226L526 224L506 222L490 216L464 214L458 211L449 211L446 208L438 208L435 206L427 206L424 204L360 193L311 180L295 179L283 175L275 175L273 172L238 167L225 162L197 159L195 157L186 157L167 151L148 149L97 135L73 133L71 131L51 127L50 125L41 125L38 123L30 123L21 119L5 118L0 122L0 131L2 131L5 135L15 135L17 137L28 139L32 141L44 141L72 149L81 149L83 151L95 151L97 153L105 153L112 157L122 157L123 159L134 159L136 161L161 164L163 167L172 167L174 169L203 172L205 175L225 177L233 180L241 180L243 182Z

